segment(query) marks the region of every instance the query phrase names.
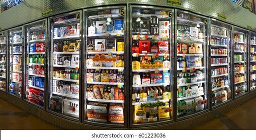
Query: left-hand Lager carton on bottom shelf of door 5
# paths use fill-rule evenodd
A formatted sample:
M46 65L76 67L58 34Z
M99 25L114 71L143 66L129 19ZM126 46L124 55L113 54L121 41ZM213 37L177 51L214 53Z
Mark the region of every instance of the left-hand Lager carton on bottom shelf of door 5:
M106 121L108 118L107 104L98 102L89 102L87 104L87 117L98 118L102 121Z

